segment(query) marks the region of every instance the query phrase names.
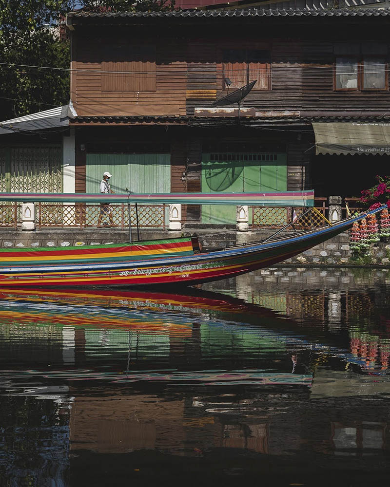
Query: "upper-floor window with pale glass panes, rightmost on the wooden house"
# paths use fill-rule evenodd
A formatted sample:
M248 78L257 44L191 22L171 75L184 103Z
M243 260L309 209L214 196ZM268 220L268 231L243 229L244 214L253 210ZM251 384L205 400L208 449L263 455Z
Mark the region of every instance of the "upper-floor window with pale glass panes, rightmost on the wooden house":
M379 42L334 45L335 90L387 90L388 48Z

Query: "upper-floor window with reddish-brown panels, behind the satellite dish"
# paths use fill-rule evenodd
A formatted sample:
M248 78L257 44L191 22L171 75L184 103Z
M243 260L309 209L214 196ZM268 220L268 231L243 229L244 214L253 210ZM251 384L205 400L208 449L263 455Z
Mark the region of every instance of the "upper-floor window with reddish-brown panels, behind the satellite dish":
M254 90L270 90L270 52L259 49L224 50L223 77L229 78L234 88L241 88L257 79Z

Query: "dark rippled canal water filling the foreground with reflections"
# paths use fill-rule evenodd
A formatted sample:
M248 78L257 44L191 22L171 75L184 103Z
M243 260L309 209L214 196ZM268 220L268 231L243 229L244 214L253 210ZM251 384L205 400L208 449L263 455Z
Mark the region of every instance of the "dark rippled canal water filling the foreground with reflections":
M389 269L0 291L0 486L390 474Z

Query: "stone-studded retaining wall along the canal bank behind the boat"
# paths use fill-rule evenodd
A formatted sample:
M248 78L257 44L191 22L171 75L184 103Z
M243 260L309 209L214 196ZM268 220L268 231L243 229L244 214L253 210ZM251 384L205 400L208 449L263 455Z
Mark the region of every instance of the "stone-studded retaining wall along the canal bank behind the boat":
M246 244L259 242L270 235L269 231L256 232L235 232L234 230L210 230L185 229L183 232L162 231L162 230L142 230L141 237L147 239L161 239L167 237L180 237L193 235L196 233L199 240L203 242L204 250L223 248L229 245ZM133 238L134 238L133 233ZM127 242L129 240L128 231L102 229L102 230L37 230L32 232L21 230L0 230L0 246L9 248L23 247L53 247L69 245L94 245ZM390 239L382 239L377 244L371 244L370 253L372 260L370 263L389 266ZM290 264L312 264L312 265L345 265L354 264L351 261L351 249L349 233L342 233L323 244L306 250L302 254L287 259Z

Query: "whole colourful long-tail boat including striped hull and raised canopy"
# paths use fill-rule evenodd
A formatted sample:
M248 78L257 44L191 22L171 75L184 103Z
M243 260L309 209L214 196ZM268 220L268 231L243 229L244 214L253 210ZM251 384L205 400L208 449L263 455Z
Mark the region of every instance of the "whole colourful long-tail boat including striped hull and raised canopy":
M313 206L312 191L178 195L80 195L2 193L2 201L153 202ZM210 198L208 198L210 197ZM84 198L84 199L83 199ZM192 198L192 199L190 199ZM152 240L111 245L0 249L0 286L145 286L193 285L245 274L282 262L347 230L354 222L383 208L266 242L199 252L197 238Z

